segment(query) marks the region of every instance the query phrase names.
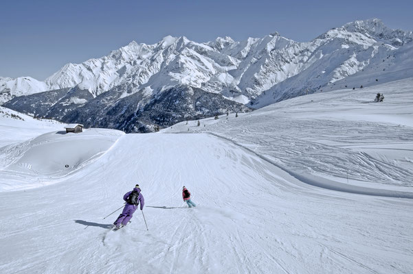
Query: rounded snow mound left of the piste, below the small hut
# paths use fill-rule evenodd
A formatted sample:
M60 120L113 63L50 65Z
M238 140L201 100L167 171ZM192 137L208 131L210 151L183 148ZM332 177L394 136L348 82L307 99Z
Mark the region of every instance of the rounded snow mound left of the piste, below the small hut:
M123 134L112 129L86 129L79 134L49 132L0 149L0 172L32 175L43 185L44 179L64 177L95 160ZM0 184L0 190L19 188L27 188L27 185Z

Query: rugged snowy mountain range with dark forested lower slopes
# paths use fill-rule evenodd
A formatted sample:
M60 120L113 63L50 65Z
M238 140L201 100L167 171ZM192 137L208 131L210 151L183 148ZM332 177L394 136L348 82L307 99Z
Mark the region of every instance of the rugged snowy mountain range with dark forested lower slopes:
M379 19L348 23L311 42L278 33L205 43L167 36L66 64L44 82L0 78L0 99L36 116L148 132L309 92L412 77L412 40L412 32L389 29Z

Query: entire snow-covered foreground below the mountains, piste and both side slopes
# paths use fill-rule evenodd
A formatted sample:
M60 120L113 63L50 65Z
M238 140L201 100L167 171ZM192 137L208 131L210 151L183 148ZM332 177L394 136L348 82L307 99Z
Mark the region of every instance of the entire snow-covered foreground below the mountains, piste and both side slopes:
M0 154L0 273L411 273L412 85L302 96L157 134L22 137L29 125L10 125L1 138L21 142ZM104 217L135 184L148 230L137 210L113 232L119 212Z

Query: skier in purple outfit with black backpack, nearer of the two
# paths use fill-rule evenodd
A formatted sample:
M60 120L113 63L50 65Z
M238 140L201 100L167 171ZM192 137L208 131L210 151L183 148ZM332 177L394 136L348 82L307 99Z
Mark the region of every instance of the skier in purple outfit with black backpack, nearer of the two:
M145 200L142 196L139 184L137 184L132 191L127 192L123 196L123 199L124 201L126 201L126 205L122 213L119 215L118 219L116 219L115 223L113 223L115 228L124 227L128 224L129 220L131 220L133 216L133 212L135 212L135 210L137 209L139 202L141 204L141 210L144 209Z

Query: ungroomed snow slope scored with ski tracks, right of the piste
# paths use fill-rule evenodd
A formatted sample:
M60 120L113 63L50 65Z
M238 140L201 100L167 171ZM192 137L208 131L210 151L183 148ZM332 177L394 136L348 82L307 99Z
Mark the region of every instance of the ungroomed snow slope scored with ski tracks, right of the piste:
M350 192L358 190L348 184L407 190L413 186L412 86L413 78L408 78L362 90L322 92L238 118L223 115L199 127L192 121L164 131L189 129L236 140L309 184L326 182ZM377 92L384 95L383 102L374 101Z

